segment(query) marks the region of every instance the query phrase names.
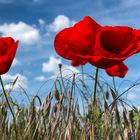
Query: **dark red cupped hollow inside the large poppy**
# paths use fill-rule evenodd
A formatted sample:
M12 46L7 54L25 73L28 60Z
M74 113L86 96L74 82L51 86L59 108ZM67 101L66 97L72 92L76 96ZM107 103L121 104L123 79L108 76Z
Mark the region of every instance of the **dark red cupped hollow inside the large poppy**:
M133 39L132 29L128 27L106 27L101 31L101 46L113 54L123 52Z

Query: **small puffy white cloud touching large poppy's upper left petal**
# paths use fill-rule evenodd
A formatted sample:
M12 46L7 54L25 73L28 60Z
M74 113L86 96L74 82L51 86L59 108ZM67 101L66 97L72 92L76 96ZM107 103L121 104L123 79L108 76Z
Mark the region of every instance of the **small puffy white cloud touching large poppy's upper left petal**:
M71 21L67 16L58 15L52 24L49 25L49 29L53 32L58 32L63 28L72 26L75 21Z

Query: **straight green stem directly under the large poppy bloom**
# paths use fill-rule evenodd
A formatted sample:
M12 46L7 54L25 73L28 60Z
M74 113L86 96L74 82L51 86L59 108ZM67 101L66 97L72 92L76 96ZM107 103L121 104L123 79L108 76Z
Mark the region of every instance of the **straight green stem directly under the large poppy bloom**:
M98 73L99 73L99 68L96 67L95 82L94 82L94 94L93 94L93 105L94 105L94 106L95 106L95 104L96 104L96 93L97 93Z

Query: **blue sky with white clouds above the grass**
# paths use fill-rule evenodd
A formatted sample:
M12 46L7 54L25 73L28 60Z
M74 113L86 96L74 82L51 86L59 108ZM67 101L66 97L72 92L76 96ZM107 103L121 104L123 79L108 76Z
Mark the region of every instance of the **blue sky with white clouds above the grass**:
M139 7L139 0L0 0L0 35L11 35L20 41L12 68L3 75L3 79L12 81L20 75L17 87L20 84L27 92L35 94L46 79L57 74L57 63L80 72L80 68L71 67L69 61L55 53L55 34L86 15L101 25L140 28ZM116 78L117 85L123 80L134 82L140 78L140 55L132 56L125 62L129 72L124 79ZM94 67L87 64L84 70L92 74ZM100 70L100 75L111 83L112 78L103 70ZM127 87L127 82L122 85L122 89ZM138 106L139 92L140 88L136 88L135 92L128 94L129 101Z

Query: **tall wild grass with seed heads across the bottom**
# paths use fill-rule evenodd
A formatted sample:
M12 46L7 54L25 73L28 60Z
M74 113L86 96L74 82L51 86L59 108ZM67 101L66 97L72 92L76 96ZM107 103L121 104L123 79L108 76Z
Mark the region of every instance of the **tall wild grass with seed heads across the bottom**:
M140 140L140 111L121 98L138 82L118 93L97 75L66 78L59 68L60 77L44 100L36 95L29 106L21 106L6 92L14 117L1 91L1 140ZM96 86L89 87L87 79Z

